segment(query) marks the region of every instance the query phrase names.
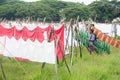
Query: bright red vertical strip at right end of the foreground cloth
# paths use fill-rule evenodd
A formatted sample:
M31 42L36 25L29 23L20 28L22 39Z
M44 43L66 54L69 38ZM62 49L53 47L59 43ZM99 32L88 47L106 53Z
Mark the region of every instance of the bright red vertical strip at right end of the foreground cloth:
M51 34L52 31L52 34ZM51 37L50 37L51 35ZM58 43L55 45L56 47L56 53L59 60L64 59L64 25L60 27L60 29L54 30L54 28L50 27L50 29L47 31L48 39L50 38L50 41L57 40L56 37L59 37Z

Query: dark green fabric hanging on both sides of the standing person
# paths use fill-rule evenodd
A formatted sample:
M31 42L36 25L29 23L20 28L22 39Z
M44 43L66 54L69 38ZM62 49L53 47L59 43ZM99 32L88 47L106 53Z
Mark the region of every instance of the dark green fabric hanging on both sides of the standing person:
M75 35L74 35L75 36ZM90 43L89 43L89 34L84 32L84 31L79 31L79 35L75 37L75 39L78 39L80 41L80 43L82 43L84 46L86 46L87 48L89 47ZM110 54L110 46L101 41L98 40L94 42L94 45L96 47L96 53L101 54L103 52Z

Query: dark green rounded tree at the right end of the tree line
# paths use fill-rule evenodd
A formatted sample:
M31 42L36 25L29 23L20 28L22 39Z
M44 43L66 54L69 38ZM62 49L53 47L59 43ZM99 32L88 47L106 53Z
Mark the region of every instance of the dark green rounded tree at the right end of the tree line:
M91 17L99 22L111 21L117 14L115 13L115 3L108 0L95 1L88 5L91 10Z

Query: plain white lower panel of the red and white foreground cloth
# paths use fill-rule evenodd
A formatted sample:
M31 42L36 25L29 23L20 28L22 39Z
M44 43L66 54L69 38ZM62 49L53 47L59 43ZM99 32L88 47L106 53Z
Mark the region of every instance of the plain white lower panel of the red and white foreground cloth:
M24 41L23 39L16 40L15 38L6 38L4 56L19 57L35 62L46 62L55 64L56 56L54 50L54 41L42 43L32 42L31 40Z

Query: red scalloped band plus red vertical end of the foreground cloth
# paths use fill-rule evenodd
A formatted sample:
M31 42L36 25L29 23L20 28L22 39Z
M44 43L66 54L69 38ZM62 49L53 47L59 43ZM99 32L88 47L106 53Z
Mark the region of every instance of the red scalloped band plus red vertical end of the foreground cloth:
M45 33L47 39L50 36L50 31L53 29L52 26L48 26L46 28L40 28L37 26L33 30L29 30L26 26L24 26L22 29L17 29L16 26L11 28L5 28L3 25L0 25L0 37L7 36L9 39L15 38L16 40L23 39L24 41L27 41L28 39L32 42L35 42L36 40L39 43L43 43L45 38ZM63 60L64 57L64 24L59 29L54 29L54 34L56 36L59 36L59 45L56 48L56 53L59 60ZM51 41L55 41L55 36L52 34L52 37L50 38ZM16 56L15 56L16 57Z

